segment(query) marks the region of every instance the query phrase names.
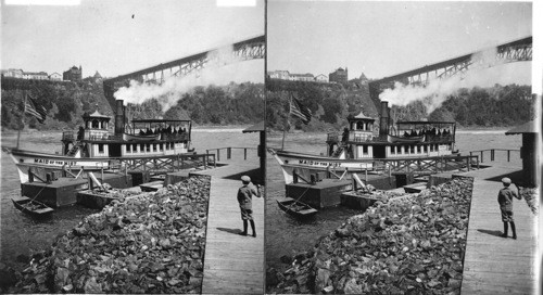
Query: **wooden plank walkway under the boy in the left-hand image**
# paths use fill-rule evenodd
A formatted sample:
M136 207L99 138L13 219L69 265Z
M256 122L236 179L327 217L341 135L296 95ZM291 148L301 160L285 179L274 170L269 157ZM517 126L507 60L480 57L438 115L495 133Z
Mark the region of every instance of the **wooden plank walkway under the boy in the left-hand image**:
M239 235L243 222L236 197L242 183L223 178L252 168L239 164L198 171L212 176L202 294L264 294L264 198L253 197L257 236Z

